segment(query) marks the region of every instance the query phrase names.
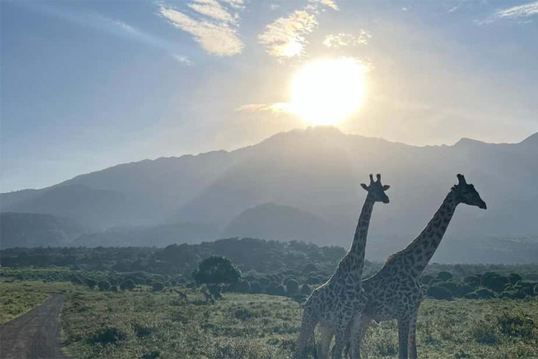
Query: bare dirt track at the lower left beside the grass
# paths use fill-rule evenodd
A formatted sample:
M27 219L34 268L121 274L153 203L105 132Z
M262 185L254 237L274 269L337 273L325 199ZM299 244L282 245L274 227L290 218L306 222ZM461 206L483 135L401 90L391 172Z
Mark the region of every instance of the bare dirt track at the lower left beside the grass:
M0 326L0 358L67 359L60 346L60 309L65 297L50 294L41 306Z

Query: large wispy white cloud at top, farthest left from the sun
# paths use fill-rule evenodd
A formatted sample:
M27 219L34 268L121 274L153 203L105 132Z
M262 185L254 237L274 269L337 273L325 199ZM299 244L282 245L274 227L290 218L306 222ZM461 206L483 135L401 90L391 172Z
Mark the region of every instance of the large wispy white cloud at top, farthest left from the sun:
M198 18L192 18L181 11L167 6L160 6L159 13L170 24L193 36L207 53L218 56L233 56L241 53L244 43L237 34L239 13L232 13L225 8L242 9L242 0L195 0L188 4Z

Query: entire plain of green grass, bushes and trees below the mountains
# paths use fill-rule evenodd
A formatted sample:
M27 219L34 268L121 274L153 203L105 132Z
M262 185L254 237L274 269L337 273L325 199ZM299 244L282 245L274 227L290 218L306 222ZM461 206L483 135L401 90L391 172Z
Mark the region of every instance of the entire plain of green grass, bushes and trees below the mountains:
M301 303L344 253L256 239L3 250L2 318L43 302L44 292L64 292L62 341L74 358L285 358ZM367 262L365 275L380 266ZM538 265L431 264L422 276L420 355L536 357L537 281ZM13 299L20 308L8 311ZM364 348L371 358L394 357L396 322L373 325Z

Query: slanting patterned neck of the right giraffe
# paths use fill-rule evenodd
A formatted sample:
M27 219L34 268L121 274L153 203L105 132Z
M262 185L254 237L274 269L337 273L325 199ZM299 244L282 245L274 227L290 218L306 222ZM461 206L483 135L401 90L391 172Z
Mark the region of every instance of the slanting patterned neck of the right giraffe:
M425 229L406 249L401 251L401 255L396 254L394 256L394 258L402 257L404 262L408 262L415 276L420 276L429 260L432 259L443 239L448 224L450 224L450 219L452 219L458 203L457 194L453 190L450 191Z

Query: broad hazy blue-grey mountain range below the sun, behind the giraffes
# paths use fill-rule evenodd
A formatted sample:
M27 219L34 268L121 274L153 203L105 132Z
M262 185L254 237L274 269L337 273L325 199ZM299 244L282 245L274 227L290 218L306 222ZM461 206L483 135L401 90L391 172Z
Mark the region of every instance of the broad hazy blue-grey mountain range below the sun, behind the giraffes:
M319 244L326 238L326 244L347 248L364 203L359 184L368 173L379 172L392 186L387 191L391 203L375 205L366 256L382 258L420 232L460 172L475 184L488 210L461 205L448 228L447 245L468 238L536 238L537 155L538 134L517 144L462 139L453 146L415 147L309 128L235 151L116 165L46 189L1 194L0 205L2 211L71 217L101 231L204 223L218 228L220 236L233 229L238 236L296 236ZM261 203L277 205L256 209ZM291 212L301 223L326 225L330 234L316 236L303 224L292 228L294 220L286 224L287 231L264 227L263 218L282 224ZM244 218L252 213L258 222L251 224ZM315 220L308 222L309 216Z

